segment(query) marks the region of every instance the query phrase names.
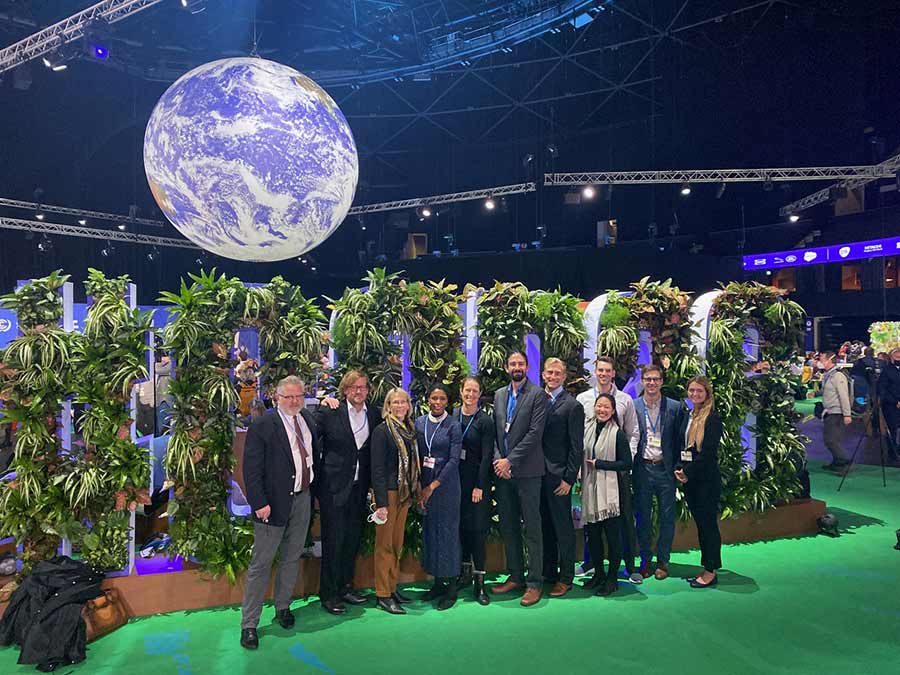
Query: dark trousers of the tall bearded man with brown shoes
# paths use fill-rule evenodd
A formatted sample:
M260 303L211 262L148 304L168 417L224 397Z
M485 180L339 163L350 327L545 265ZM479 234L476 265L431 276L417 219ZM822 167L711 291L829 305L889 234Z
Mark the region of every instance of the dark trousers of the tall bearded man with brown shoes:
M506 544L506 566L510 580L540 588L544 561L541 532L541 479L510 478L497 481L497 502L500 511L500 532ZM528 576L525 576L525 552L522 550L522 523L525 524L524 544L528 551Z

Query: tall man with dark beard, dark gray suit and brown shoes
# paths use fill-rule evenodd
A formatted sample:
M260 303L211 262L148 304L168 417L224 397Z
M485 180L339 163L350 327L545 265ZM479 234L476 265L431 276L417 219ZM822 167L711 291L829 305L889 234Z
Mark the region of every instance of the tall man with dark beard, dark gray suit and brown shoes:
M527 584L522 606L541 599L544 560L541 533L541 478L544 475L544 420L547 396L527 376L528 357L510 352L506 372L510 384L494 393L494 423L497 449L494 473L497 474L497 501L500 532L506 544L509 580L491 588L493 593L509 593ZM528 550L528 577L522 550L522 521L525 521L525 546Z

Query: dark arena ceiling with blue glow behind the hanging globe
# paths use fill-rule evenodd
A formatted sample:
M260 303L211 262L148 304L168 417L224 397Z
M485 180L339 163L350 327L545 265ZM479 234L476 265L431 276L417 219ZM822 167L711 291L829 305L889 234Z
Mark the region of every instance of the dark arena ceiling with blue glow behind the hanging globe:
M86 5L0 0L0 41ZM36 60L3 74L0 196L30 200L40 187L47 203L123 213L136 204L161 217L141 158L154 104L190 68L254 53L307 73L338 101L360 151L357 204L547 170L869 163L900 145L897 2L188 5L205 9L164 0L102 30L105 62L77 44L63 52L63 72ZM625 239L646 238L651 223L701 239L772 223L779 206L817 187L729 186L717 199L714 185L701 186L689 200L670 186L622 187L576 207L548 187L507 198L491 215L474 203L425 224L408 213L351 218L314 255L319 276L351 279L374 255L394 255L409 229L427 231L433 248L452 233L463 251L507 250L538 225L548 245L589 244L593 223L608 216ZM348 261L348 250L365 253Z

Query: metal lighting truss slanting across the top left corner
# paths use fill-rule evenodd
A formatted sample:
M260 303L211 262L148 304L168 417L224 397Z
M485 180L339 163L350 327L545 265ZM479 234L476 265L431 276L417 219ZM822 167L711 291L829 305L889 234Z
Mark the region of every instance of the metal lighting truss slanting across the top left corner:
M116 23L160 2L162 0L103 0L91 5L24 40L0 49L0 73L80 39L84 35L85 26L91 21Z

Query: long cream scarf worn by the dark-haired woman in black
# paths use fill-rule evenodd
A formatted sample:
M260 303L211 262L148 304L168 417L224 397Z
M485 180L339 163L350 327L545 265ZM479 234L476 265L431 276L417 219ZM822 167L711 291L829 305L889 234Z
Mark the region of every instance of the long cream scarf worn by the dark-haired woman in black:
M589 419L584 425L584 467L581 481L581 518L587 523L615 518L619 508L619 472L595 469L588 459L613 462L616 459L618 425L610 419L598 432L598 423Z

